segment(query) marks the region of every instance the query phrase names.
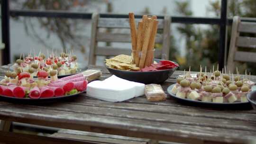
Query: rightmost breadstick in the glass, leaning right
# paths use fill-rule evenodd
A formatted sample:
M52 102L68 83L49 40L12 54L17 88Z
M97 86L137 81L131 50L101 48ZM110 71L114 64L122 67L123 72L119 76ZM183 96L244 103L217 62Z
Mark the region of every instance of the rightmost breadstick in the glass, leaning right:
M148 53L146 54L145 66L149 66L150 64L152 64L154 60L154 52L152 51L154 50L154 47L155 47L155 35L157 33L157 26L158 26L158 21L153 20L153 27L152 27L151 36L149 39L148 48L147 48Z

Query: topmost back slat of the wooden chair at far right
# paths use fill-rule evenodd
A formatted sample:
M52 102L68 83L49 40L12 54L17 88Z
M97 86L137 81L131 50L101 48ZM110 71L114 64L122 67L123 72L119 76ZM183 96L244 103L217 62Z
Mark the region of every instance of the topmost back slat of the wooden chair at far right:
M255 22L240 22L238 31L242 33L254 33L256 34Z

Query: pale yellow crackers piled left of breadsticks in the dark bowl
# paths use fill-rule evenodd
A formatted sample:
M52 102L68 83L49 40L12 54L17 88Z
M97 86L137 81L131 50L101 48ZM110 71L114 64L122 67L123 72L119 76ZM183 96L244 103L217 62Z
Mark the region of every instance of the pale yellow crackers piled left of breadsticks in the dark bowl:
M126 71L139 71L140 68L133 64L130 55L120 54L110 59L106 59L106 65L113 69L126 70Z

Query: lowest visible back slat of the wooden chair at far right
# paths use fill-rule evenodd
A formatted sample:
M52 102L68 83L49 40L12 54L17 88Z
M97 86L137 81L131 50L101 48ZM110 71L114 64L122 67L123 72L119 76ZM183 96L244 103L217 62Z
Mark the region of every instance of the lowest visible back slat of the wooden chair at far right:
M235 61L256 63L256 53L241 52L235 53Z

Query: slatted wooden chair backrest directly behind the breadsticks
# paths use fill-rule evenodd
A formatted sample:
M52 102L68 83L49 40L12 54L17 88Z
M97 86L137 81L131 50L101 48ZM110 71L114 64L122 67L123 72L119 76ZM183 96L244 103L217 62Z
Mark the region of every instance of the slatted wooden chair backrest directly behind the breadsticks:
M138 23L140 19L136 18ZM161 49L155 50L155 58L168 59L170 48L170 25L171 19L169 16L165 16L164 19L158 19L158 29L161 29L163 33L157 34L155 37L155 43L162 44ZM91 27L91 46L89 55L89 64L96 63L96 56L115 56L119 54L131 54L130 48L119 48L113 46L98 46L98 42L120 42L130 43L131 38L129 33L110 33L99 31L100 28L119 28L128 29L128 18L100 18L99 14L94 13L92 15L92 27Z

